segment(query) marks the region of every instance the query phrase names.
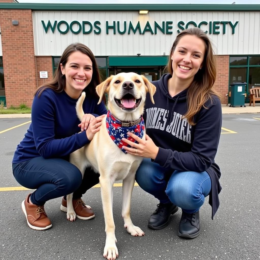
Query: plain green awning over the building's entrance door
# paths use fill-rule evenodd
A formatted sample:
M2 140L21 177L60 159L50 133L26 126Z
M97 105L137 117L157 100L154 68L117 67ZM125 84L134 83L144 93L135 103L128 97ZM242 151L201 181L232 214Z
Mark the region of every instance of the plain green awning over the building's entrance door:
M151 67L165 66L168 56L109 56L108 64L112 67Z

